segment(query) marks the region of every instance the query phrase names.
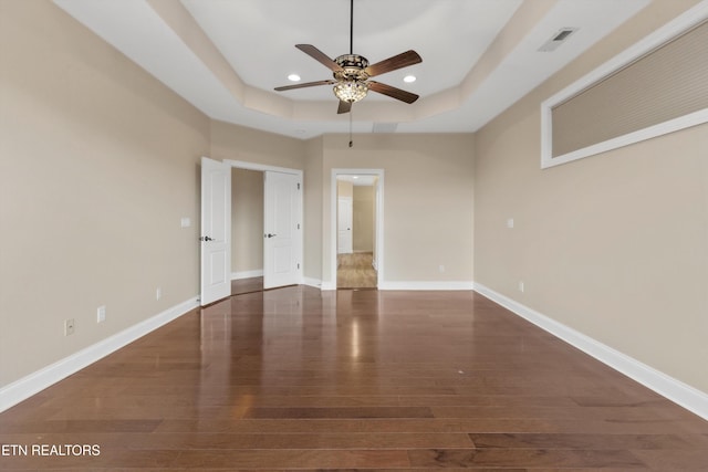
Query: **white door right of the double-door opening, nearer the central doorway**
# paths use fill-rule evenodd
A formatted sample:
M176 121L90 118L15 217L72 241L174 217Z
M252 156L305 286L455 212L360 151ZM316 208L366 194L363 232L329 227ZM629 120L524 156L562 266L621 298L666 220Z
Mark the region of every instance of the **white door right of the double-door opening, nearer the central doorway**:
M301 179L295 174L270 170L264 179L263 289L299 284Z

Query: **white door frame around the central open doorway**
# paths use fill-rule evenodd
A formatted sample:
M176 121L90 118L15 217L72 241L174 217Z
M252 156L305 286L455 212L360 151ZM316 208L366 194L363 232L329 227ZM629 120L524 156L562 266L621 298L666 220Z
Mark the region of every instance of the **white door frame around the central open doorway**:
M336 237L337 237L337 192L336 178L339 176L376 176L376 286L383 286L384 282L384 169L332 169L330 182L330 281L322 283L322 290L336 290Z

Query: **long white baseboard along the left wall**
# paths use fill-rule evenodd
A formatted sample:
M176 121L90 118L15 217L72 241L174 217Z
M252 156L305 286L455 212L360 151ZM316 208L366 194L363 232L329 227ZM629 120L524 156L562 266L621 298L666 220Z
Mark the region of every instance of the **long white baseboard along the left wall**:
M0 412L77 373L96 360L118 350L158 327L199 306L198 297L189 298L152 318L145 319L92 346L64 357L35 373L0 388Z

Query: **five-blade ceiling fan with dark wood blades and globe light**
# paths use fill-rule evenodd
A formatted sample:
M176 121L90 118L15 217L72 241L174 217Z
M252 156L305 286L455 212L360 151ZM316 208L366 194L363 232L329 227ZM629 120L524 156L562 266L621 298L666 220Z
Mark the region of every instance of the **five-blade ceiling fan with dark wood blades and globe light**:
M334 95L340 99L336 113L348 113L352 104L364 98L368 91L388 95L405 103L413 103L418 99L418 95L396 88L381 82L369 81L369 77L396 71L413 64L423 62L417 52L409 50L392 57L385 59L376 64L368 65L368 60L363 55L353 53L354 36L354 0L350 0L350 53L331 60L325 53L312 44L295 44L300 51L304 52L315 61L329 67L334 78L325 81L306 82L303 84L285 85L275 87L275 91L291 91L293 88L313 87L317 85L334 85Z

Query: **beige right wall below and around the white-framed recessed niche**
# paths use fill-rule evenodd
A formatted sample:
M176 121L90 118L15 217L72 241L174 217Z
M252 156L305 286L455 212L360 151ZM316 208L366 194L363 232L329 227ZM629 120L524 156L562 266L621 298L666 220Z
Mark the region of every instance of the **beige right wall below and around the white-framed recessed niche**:
M541 102L694 3L652 3L477 133L475 280L708 391L708 126L540 169Z

